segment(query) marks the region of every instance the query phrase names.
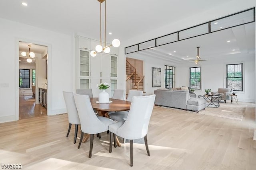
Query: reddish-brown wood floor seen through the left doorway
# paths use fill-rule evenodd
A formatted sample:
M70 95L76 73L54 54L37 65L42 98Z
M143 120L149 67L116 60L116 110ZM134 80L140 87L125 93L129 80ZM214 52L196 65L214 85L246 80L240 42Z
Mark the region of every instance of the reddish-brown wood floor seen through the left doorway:
M19 120L31 117L47 116L47 110L36 102L26 102L23 96L19 96Z

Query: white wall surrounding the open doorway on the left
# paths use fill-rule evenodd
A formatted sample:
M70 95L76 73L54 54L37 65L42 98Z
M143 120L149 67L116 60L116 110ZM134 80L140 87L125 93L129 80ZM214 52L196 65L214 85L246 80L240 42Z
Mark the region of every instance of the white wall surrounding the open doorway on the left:
M18 41L48 46L48 115L66 112L62 91L73 91L73 36L4 19L0 25L0 122L18 120Z

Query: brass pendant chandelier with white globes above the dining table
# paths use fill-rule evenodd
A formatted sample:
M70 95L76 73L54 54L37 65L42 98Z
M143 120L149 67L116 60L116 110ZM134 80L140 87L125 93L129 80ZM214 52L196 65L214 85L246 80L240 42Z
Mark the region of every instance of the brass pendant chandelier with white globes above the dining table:
M120 46L119 39L114 39L112 41L111 45L106 46L106 0L98 0L98 1L100 2L100 44L96 45L95 51L91 51L90 55L92 57L95 57L97 55L97 53L100 53L100 52L109 53L110 52L110 48L109 48L110 46L113 46L113 47L119 47ZM104 21L104 25L105 25L104 34L105 34L105 37L104 37L104 43L102 44L102 38L101 38L101 35L102 35L102 33L101 33L101 4L104 1L105 1L105 21Z

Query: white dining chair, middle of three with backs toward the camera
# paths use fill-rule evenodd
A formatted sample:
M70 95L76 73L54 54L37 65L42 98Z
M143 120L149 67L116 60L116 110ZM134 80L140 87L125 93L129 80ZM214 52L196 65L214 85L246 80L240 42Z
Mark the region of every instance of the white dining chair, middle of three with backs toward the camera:
M114 121L107 117L97 117L92 109L92 104L88 95L74 94L74 99L78 111L78 116L81 121L82 130L78 149L81 146L84 133L90 134L89 158L91 158L94 134L108 131L109 125L114 123Z

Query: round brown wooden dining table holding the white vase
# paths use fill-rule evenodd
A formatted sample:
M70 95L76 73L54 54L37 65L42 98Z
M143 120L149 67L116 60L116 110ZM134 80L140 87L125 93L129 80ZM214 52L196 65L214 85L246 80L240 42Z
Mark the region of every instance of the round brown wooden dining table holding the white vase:
M104 117L108 117L108 112L109 111L127 111L130 109L131 106L131 102L126 101L126 100L118 100L118 99L109 99L109 103L104 103L104 104L100 104L98 103L98 98L90 98L90 102L92 104L92 108L95 109L98 113L98 116L104 116ZM84 138L84 142L87 141L88 137L90 135L87 135ZM116 138L116 144L118 145L118 147L121 147L121 144L118 140L118 138Z

